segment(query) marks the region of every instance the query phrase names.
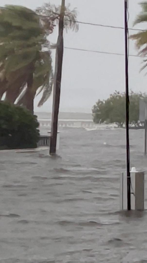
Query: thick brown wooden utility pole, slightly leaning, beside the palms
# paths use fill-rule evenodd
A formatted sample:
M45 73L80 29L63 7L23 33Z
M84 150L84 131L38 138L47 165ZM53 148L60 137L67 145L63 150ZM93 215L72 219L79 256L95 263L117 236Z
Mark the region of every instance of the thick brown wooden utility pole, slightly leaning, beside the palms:
M63 48L64 48L63 47L64 15L65 15L65 0L62 0L60 18L59 18L59 34L58 34L57 47L56 47L50 155L56 154L58 114L59 114L60 88L61 88L61 76L62 76L62 61L63 61Z

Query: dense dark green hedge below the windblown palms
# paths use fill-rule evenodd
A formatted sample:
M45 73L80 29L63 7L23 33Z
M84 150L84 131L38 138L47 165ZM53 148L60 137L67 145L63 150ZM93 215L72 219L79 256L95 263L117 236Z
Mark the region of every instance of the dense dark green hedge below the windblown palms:
M0 148L36 148L39 140L37 117L28 110L0 102Z

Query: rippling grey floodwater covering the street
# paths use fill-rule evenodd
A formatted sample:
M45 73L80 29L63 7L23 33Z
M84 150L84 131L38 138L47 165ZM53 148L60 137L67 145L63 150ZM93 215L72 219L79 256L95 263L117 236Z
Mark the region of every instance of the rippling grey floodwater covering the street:
M125 130L60 137L56 158L0 151L0 263L147 262L147 211L119 212ZM130 131L131 166L146 171L143 145Z

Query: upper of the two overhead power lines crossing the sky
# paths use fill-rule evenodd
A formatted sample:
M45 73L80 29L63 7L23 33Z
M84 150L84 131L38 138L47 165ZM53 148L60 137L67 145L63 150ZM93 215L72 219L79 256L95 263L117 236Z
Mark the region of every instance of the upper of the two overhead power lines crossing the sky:
M14 9L8 8L8 7L2 7L2 6L0 6L0 8L15 11ZM22 12L22 11L17 10L17 12ZM36 16L43 16L43 15L36 14L35 12L30 12L30 14L31 14L31 13L32 13L33 15L36 15ZM70 19L66 19L66 21L73 22L73 23L78 23L78 24L85 24L85 25L89 25L89 26L115 28L115 29L124 29L124 27L109 26L109 25L95 24L95 23L82 22L82 21L71 21ZM129 30L133 30L133 31L145 31L145 30L143 30L143 29L135 29L135 28L128 28L128 29L129 29Z

